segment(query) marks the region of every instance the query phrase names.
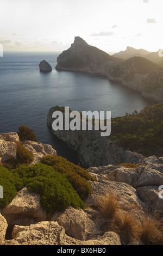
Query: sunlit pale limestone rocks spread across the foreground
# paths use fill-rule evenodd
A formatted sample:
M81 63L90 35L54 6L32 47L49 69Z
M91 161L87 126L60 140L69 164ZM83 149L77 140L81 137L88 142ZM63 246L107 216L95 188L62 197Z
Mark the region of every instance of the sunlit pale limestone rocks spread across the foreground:
M1 135L1 161L14 156L16 133ZM25 142L35 154L35 162L41 155L56 154L50 145ZM163 217L163 199L159 197L163 185L163 157L150 156L137 160L134 168L121 164L109 164L87 169L97 181L90 181L93 188L85 202L85 210L71 206L52 216L42 209L40 195L26 187L16 194L12 202L1 209L1 245L143 245L140 237L125 239L120 231L123 216L134 217L135 225L141 225L151 212ZM97 209L101 194L114 193L118 198L118 223L104 217ZM1 200L1 199L0 199ZM135 227L136 228L136 227Z

